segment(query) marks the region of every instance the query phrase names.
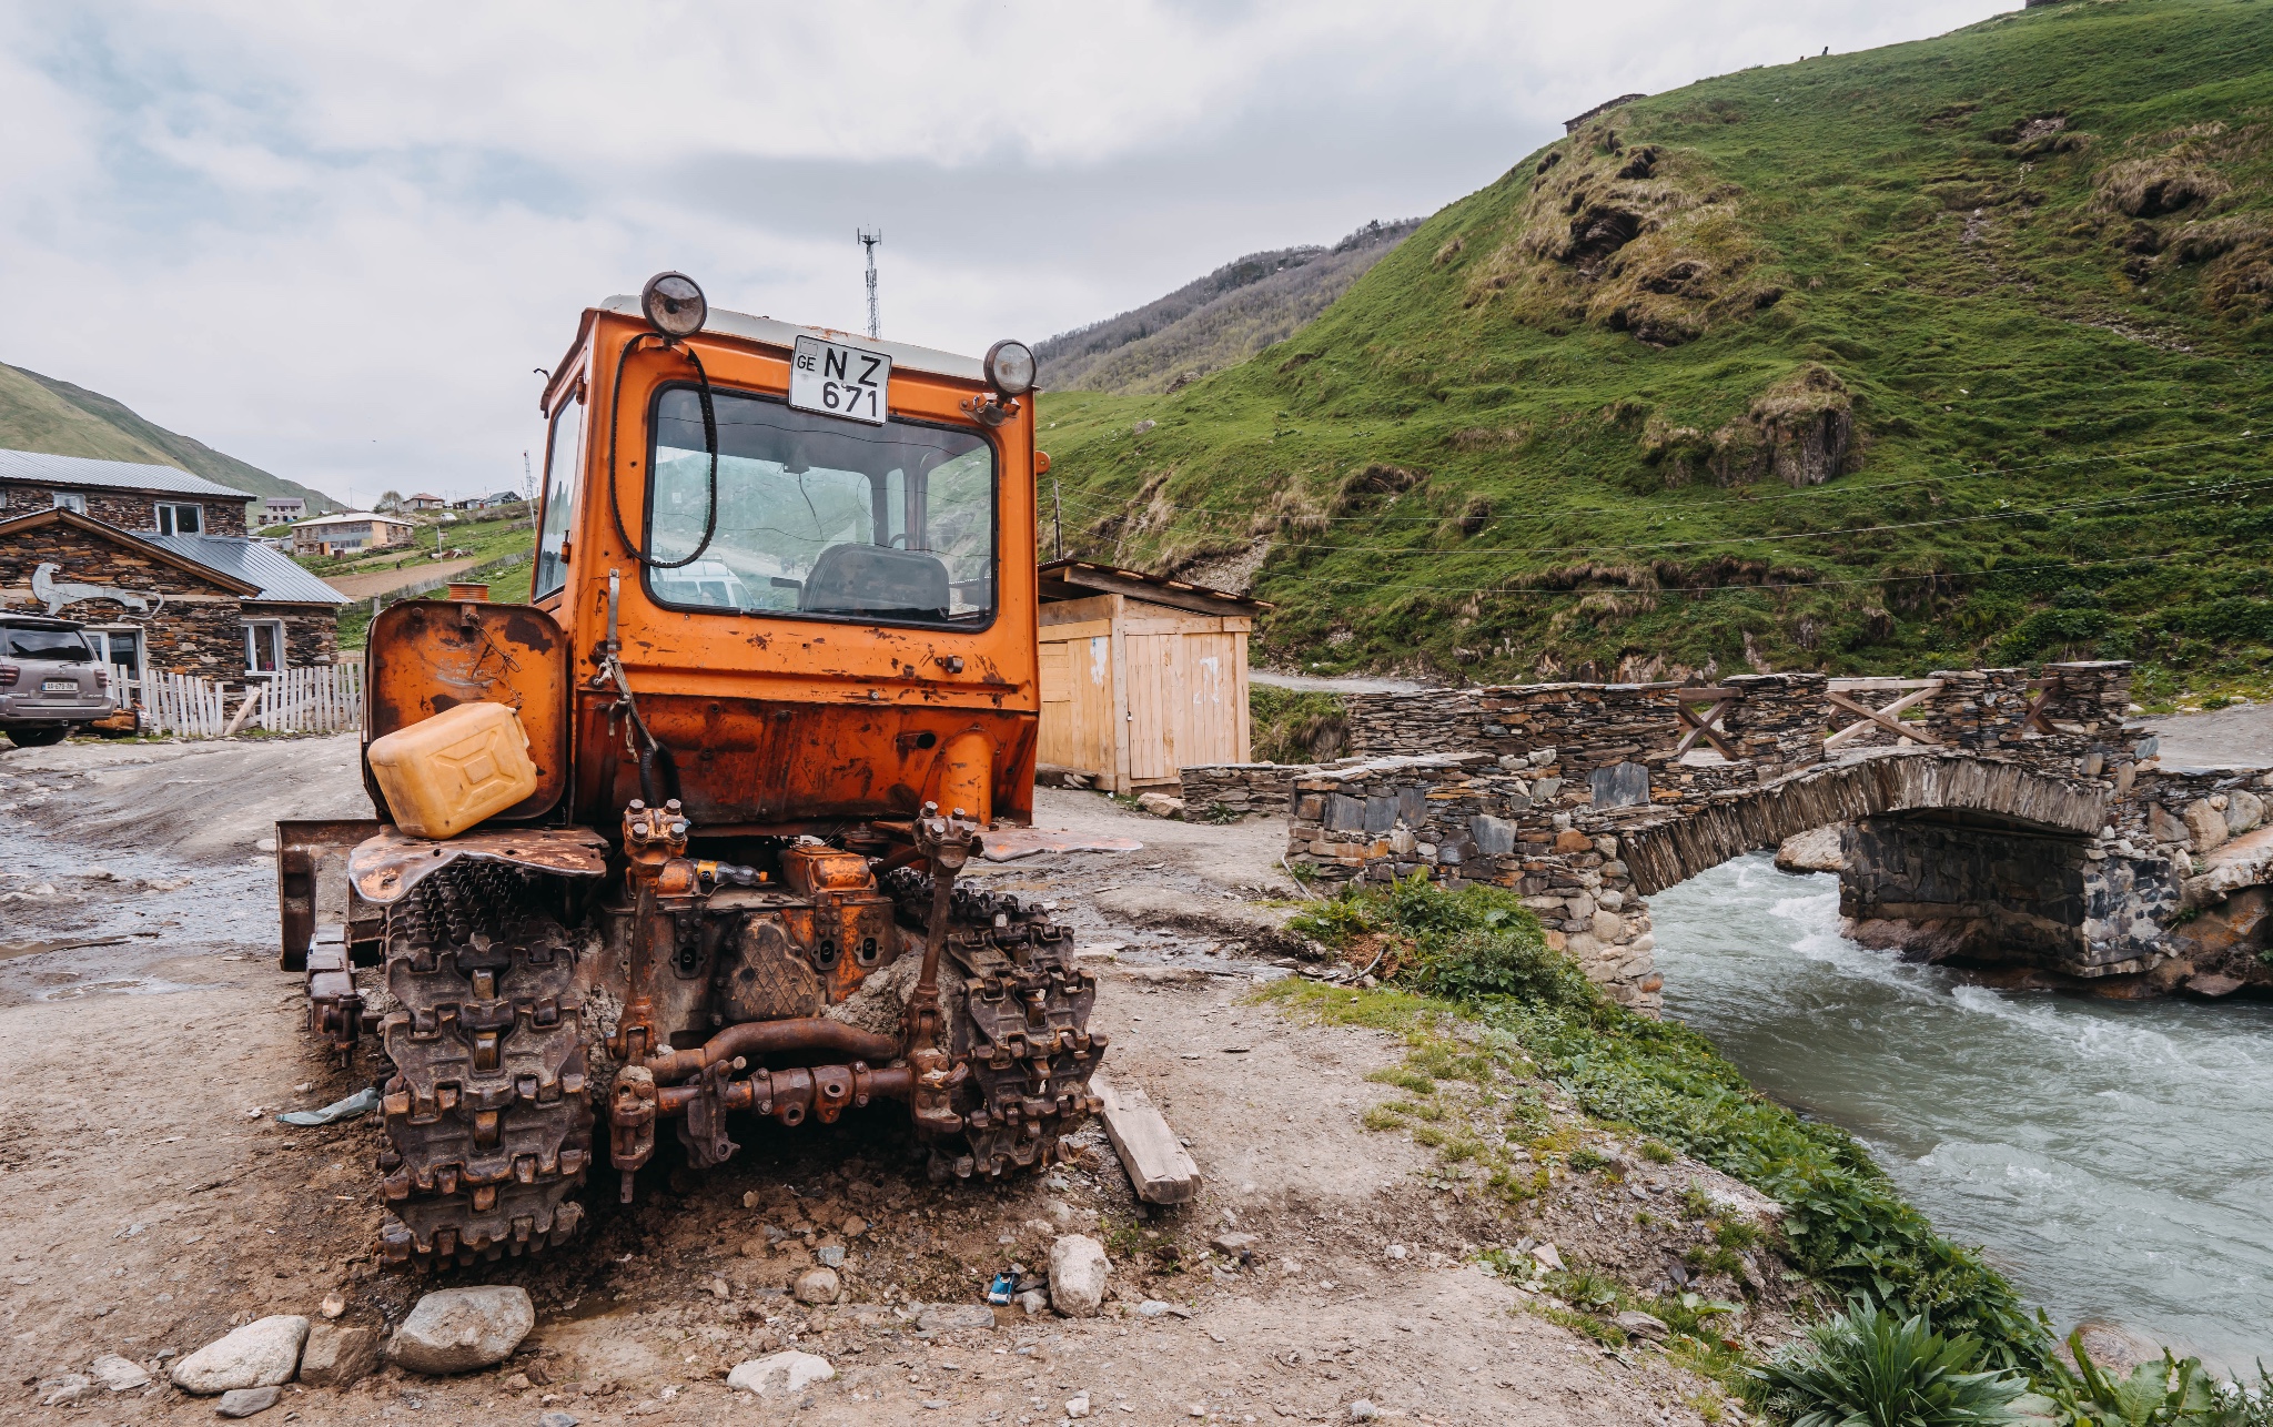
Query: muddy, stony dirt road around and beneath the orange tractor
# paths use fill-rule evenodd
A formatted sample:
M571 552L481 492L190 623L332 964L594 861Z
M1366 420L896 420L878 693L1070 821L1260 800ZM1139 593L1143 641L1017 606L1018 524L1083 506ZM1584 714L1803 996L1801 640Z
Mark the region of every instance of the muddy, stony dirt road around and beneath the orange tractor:
M261 838L286 811L361 811L350 741L0 750L0 1418L211 1420L211 1400L164 1379L39 1402L98 1354L159 1366L327 1293L384 1332L427 1286L370 1259L377 1127L273 1118L373 1073L316 1054L295 977L273 963ZM1382 1098L1366 1075L1402 1059L1391 1036L1246 1000L1257 975L1284 975L1282 909L1252 900L1275 886L1275 823L1184 827L1048 791L1036 820L1148 843L980 875L1055 900L1093 952L1118 948L1096 961L1107 1066L1189 1141L1196 1204L1141 1209L1093 1129L1077 1166L984 1188L930 1184L882 1111L834 1134L748 1125L723 1170L673 1170L666 1152L639 1204L591 1193L568 1250L457 1279L530 1288L539 1327L511 1361L293 1386L275 1418L1009 1427L1057 1422L1086 1391L1098 1418L1132 1425L1350 1420L1359 1400L1421 1422L1700 1420L1684 1402L1702 1384L1662 1354L1607 1354L1464 1263L1557 1211L1502 1220L1405 1134L1362 1127ZM1614 1202L1564 1207L1564 1243L1605 1204L1616 1222ZM1234 1227L1259 1236L1252 1266L1207 1250ZM923 1316L971 1313L991 1272L1039 1268L1064 1232L1111 1247L1107 1316ZM782 1286L830 1245L848 1302L793 1304ZM730 1366L782 1345L827 1357L836 1379L793 1404L725 1388Z

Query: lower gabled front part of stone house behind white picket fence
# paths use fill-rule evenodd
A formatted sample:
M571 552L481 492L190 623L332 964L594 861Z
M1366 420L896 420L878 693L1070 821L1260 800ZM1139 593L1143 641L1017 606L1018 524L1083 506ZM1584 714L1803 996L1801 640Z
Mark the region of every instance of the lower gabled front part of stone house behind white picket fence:
M89 491L91 509L118 509L98 495L116 493ZM241 686L332 664L345 602L243 534L120 529L68 504L0 511L0 609L80 620L136 682L166 670Z

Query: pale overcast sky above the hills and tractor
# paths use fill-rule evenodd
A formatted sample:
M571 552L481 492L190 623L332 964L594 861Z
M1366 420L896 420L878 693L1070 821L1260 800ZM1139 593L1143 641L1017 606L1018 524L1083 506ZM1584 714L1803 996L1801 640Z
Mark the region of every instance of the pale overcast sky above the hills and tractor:
M1627 91L2016 0L0 0L0 361L336 498L518 484L659 268L982 350L1427 214Z

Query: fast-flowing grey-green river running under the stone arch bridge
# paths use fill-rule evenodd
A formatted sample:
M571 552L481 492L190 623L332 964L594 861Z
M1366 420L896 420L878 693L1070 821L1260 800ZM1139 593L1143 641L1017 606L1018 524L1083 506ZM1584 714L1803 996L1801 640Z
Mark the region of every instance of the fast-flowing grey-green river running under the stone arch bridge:
M2273 1007L1971 986L1839 936L1766 852L1650 898L1666 1013L1846 1127L2066 1334L2273 1363Z

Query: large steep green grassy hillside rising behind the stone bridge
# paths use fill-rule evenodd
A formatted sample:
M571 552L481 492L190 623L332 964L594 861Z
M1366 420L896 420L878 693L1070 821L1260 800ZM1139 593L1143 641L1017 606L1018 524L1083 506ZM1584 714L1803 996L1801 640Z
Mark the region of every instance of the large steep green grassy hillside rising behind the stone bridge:
M1043 445L1068 552L1250 579L1280 666L2166 698L2273 664L2268 311L2273 5L2078 0L1602 114Z

